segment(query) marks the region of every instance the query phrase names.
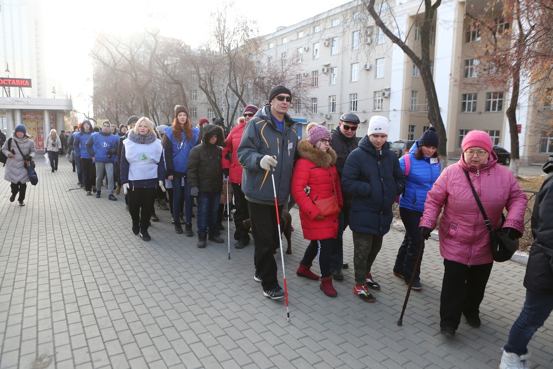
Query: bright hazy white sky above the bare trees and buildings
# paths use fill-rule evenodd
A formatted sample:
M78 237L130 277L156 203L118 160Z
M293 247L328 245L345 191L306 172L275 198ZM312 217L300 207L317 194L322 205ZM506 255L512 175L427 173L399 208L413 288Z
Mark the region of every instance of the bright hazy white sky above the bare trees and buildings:
M45 13L46 70L64 81L78 111L88 111L91 94L91 61L88 54L95 34L101 29L122 33L147 27L161 34L197 46L210 34L211 13L220 0L40 0ZM235 0L230 19L256 20L259 34L268 34L279 25L292 25L337 7L347 1ZM59 96L61 97L61 96ZM92 112L92 111L90 111Z

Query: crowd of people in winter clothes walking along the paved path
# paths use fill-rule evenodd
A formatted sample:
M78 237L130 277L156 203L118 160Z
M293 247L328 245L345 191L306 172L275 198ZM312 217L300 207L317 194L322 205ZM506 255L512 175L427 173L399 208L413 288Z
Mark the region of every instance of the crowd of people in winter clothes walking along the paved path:
M109 121L94 127L85 119L74 132L62 132L61 137L51 130L46 152L54 173L59 153L67 150L77 184L88 196L96 193L101 198L106 187L108 200L117 201L122 189L130 229L144 241L152 238L148 229L152 221L159 221L155 214L159 207L170 210L175 232L188 237L194 235L192 218L196 218L198 248L205 248L208 241L224 243L221 218L226 214L232 220L229 208L223 212L225 203L232 204L234 247L241 249L251 242L243 223L249 219L253 276L263 295L274 300L286 294L274 258L279 217L295 202L307 240L296 274L319 281L322 293L336 297L333 280L343 280L342 269L349 267L343 260L343 232L349 227L353 293L374 302L372 291L381 289L376 279L382 276L374 275L372 266L392 224L395 200L405 237L390 275L402 278L414 290L423 289L424 240L439 228L444 258L440 333L455 336L463 315L468 325L479 327L479 306L494 261L487 223L503 229L511 239L520 238L528 202L512 172L498 164L491 137L484 131L469 132L462 140L460 160L444 169L434 127L398 159L387 141L390 123L384 116L371 117L364 137L356 136L359 118L347 113L332 131L310 123L307 137L299 140L299 125L288 115L292 99L290 89L275 86L269 103L260 109L247 105L228 135L222 120L210 123L201 118L193 126L182 105L175 106L174 120L168 126L156 127L148 117L138 116L119 127ZM13 202L19 194L19 205L24 206L29 181L25 162L36 153L24 125L15 127L2 152L7 157L4 178L11 182L9 200ZM552 160L544 166L549 175L532 219L534 244L532 268L525 278L526 302L505 345L500 368L529 367L526 345L553 309L553 227L545 216L553 201Z

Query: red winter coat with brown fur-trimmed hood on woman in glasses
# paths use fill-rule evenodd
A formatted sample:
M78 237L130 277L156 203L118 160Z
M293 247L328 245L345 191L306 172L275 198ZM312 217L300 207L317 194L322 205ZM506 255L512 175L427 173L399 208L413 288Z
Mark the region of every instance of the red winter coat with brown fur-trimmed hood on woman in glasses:
M322 221L315 221L319 209L310 200L317 197L331 197L336 189L338 204L343 205L340 178L335 166L336 152L332 148L328 148L327 152L321 151L307 140L301 140L298 143L296 152L300 159L294 168L290 192L300 207L304 238L309 240L336 238L339 213L327 216ZM304 191L306 186L311 187L309 197Z

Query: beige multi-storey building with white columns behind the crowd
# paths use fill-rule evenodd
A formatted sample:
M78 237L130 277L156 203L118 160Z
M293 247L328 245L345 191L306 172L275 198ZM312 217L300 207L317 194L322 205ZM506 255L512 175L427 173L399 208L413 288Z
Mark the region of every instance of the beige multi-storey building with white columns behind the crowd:
M420 49L424 4L421 11L418 1L378 3L382 14L394 14L387 19L397 24L404 39L408 34L407 44L415 51ZM465 17L467 6L465 1L442 1L431 32L432 73L447 131L447 154L460 155L462 138L474 129L487 131L495 145L510 151L505 117L509 91L461 90L456 83L474 78L478 64L474 55L483 42L480 30L471 28ZM294 119L320 122L332 129L341 114L353 112L362 121L357 134L362 136L371 116L383 115L390 120L390 141L416 140L429 126L419 70L374 25L361 2L348 2L280 27L264 39L267 69L288 69L291 87L308 85L302 95L309 97L293 101L290 115ZM553 153L553 135L542 135L538 123L551 121L551 107L533 104L528 90L521 90L517 111L521 163L543 162Z

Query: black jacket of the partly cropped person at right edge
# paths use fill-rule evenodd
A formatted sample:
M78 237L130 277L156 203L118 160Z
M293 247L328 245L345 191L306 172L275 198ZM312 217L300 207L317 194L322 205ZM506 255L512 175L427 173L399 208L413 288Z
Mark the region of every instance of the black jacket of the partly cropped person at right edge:
M532 237L524 286L534 293L553 294L553 155L544 164L547 173L532 212Z

